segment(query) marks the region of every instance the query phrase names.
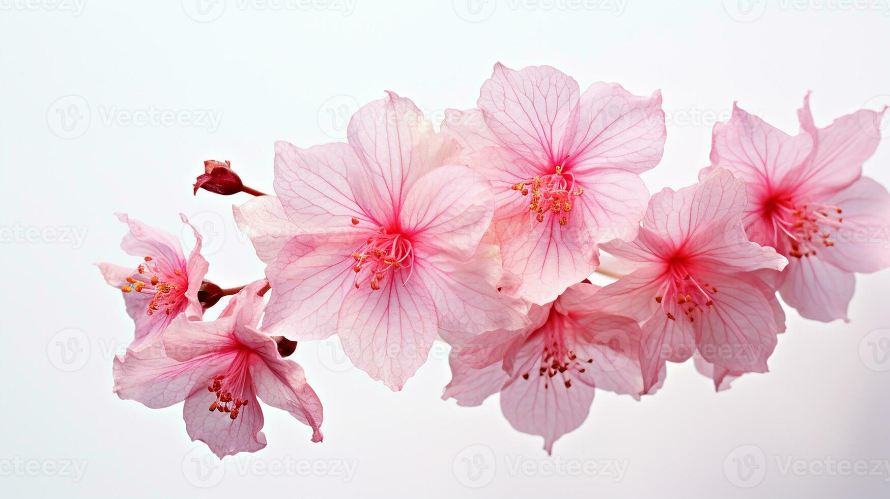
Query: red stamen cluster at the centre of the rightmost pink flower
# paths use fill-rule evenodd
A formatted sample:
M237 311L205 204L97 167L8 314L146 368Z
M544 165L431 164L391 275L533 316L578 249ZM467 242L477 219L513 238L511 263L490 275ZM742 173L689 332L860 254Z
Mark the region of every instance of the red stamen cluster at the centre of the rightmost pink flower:
M834 246L831 236L844 222L837 206L804 203L793 206L776 203L773 207L773 226L776 233L788 236L788 254L795 258L814 256L817 248Z

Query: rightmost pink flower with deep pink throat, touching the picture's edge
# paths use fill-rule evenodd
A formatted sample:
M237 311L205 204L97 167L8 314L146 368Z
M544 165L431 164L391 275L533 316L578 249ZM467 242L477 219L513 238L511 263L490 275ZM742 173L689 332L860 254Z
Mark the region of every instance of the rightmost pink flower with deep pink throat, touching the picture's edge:
M714 127L712 167L730 169L748 188L745 227L752 241L789 259L777 285L800 315L848 320L856 272L890 266L890 195L862 176L878 147L884 111L858 110L818 128L809 94L790 136L735 106Z

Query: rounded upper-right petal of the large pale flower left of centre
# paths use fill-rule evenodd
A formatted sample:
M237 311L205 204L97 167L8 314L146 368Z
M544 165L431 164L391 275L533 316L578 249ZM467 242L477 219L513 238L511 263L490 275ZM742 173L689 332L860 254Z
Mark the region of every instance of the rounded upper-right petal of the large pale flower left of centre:
M491 186L466 167L436 168L411 187L401 210L402 234L417 255L472 258L494 213Z

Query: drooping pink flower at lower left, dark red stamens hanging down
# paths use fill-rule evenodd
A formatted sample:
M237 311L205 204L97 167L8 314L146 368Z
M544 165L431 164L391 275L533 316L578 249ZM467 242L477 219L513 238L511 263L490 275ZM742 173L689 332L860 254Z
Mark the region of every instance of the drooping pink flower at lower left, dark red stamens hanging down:
M257 397L311 426L312 441L320 442L321 402L303 369L282 359L275 340L256 329L264 285L257 281L239 291L213 322L177 316L150 345L117 356L117 396L152 409L184 400L190 438L220 458L266 446Z

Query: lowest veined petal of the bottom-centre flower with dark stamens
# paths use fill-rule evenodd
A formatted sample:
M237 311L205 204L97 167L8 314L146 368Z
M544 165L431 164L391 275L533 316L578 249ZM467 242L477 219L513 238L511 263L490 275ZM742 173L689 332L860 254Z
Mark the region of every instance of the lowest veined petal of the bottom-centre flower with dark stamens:
M567 388L562 372L553 377L538 376L544 351L542 338L543 335L538 335L538 341L523 347L517 359L517 372L530 372L529 379L518 378L504 389L501 410L515 429L544 437L544 448L549 454L557 438L587 419L594 401L594 387L575 382Z

